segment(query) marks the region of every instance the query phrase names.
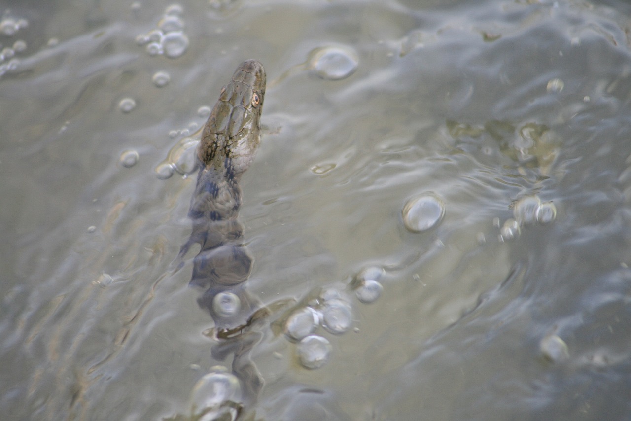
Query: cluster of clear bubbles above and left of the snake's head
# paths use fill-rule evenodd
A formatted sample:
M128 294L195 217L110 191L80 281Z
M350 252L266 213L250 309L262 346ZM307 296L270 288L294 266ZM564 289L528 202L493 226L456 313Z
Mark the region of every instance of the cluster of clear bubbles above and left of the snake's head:
M182 56L189 47L189 39L184 33L186 25L182 19L182 11L179 4L168 6L158 27L138 35L136 44L144 45L150 56L163 55L170 59Z

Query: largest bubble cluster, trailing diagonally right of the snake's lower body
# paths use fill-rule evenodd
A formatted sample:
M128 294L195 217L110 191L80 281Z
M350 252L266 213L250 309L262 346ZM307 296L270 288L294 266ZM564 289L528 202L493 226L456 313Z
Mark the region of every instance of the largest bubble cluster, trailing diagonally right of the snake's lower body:
M379 282L384 275L380 267L366 268L353 278L351 288L363 304L375 302L383 287ZM331 354L331 343L317 335L322 327L334 335L342 335L353 323L353 307L348 297L333 288L324 290L319 297L306 305L293 309L283 323L285 337L297 343L300 364L307 369L318 369L327 363Z

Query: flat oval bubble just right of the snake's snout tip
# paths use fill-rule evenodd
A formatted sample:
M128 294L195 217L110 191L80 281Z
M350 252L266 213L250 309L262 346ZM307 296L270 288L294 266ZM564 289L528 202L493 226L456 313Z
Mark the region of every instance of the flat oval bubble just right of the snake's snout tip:
M324 80L341 80L355 73L359 59L347 47L321 47L309 54L308 67Z

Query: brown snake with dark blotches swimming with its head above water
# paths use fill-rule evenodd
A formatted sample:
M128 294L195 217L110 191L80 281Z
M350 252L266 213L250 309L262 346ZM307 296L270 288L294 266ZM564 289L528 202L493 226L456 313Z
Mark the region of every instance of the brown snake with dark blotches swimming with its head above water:
M198 179L188 213L192 232L179 256L199 244L189 285L203 290L198 304L215 322L220 342L213 348L213 357L233 355L233 374L251 399L263 385L250 359L251 348L262 334L249 328L264 307L245 290L254 258L242 244L244 226L237 216L242 203L239 181L261 143L265 86L261 62L247 60L221 88L202 130L196 157Z

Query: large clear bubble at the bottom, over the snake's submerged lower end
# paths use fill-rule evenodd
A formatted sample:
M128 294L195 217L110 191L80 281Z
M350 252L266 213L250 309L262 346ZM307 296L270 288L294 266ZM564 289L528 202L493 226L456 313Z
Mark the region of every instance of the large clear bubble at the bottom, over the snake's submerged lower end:
M240 392L239 379L236 376L225 372L223 367L213 367L213 369L216 369L216 372L210 372L199 379L191 391L194 413L235 400Z

